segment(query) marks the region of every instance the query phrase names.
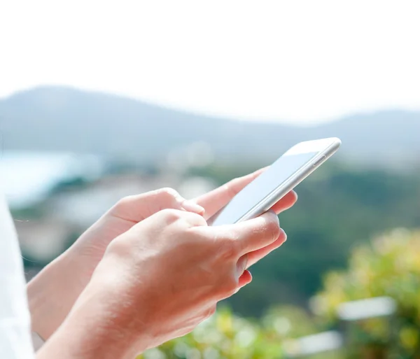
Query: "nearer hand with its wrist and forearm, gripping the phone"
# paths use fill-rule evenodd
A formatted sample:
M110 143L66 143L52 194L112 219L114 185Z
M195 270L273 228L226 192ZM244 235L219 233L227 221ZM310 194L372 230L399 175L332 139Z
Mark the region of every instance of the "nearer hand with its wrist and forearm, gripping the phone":
M207 227L197 213L155 213L111 242L43 350L58 355L61 349L69 358L134 358L185 335L251 281L247 253L283 236L272 211L219 227Z

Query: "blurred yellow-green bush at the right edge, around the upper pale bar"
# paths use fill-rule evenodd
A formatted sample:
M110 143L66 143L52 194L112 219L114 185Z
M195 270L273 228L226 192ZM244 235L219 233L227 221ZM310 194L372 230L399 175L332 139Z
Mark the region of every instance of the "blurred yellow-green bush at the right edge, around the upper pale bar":
M395 318L348 325L346 358L420 358L420 231L395 230L356 248L346 272L325 276L314 308L334 325L339 304L379 296L397 302Z

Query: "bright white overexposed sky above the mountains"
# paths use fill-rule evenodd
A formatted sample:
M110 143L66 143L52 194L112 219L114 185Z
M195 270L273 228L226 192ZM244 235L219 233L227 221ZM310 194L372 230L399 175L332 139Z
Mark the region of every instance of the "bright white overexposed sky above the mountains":
M420 110L420 1L0 2L0 97L69 85L300 125Z

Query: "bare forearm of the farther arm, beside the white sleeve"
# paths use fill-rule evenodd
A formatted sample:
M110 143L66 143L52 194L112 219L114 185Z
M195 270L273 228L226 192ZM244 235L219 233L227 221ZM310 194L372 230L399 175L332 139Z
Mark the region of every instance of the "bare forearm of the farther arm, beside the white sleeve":
M52 261L27 286L32 330L44 340L50 338L82 290L67 253Z

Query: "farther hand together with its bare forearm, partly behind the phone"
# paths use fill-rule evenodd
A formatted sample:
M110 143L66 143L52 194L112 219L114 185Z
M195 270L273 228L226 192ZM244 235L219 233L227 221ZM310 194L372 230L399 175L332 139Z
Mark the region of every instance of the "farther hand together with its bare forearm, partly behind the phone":
M194 201L183 199L170 188L121 199L83 233L68 251L45 267L43 272L29 283L28 298L33 330L44 339L52 335L90 281L106 247L114 238L162 209L191 211L209 218L228 204L237 192L263 170L235 178ZM273 207L273 210L279 213L288 209L293 206L296 198L295 192L290 192ZM250 253L248 266L279 247L284 240L280 238L270 246Z

